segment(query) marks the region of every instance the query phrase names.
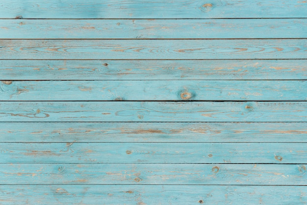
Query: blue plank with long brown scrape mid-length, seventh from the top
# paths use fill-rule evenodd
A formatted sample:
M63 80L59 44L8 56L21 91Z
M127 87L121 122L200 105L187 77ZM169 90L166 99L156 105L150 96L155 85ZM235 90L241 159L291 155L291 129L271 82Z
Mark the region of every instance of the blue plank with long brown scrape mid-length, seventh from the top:
M306 122L1 122L0 142L298 142Z

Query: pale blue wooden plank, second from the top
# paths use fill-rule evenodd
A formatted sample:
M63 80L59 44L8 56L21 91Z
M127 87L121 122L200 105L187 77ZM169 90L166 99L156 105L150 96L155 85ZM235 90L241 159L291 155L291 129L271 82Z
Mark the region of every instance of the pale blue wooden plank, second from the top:
M306 19L0 20L2 39L306 38ZM293 32L295 30L295 32Z

